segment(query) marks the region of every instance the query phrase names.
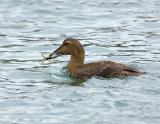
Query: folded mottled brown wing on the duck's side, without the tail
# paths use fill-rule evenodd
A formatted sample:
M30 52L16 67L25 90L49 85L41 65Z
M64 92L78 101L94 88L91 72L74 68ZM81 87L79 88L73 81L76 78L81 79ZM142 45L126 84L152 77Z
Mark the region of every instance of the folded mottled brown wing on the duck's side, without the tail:
M123 68L119 64L110 61L100 61L83 65L76 71L76 75L79 77L111 77L112 75L121 73L122 71Z

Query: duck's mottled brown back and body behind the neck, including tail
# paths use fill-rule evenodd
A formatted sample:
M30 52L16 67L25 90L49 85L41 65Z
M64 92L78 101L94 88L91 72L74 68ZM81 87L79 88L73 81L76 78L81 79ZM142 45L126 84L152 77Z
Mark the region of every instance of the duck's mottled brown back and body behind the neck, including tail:
M138 76L141 73L121 63L111 61L99 61L79 66L73 73L76 77L122 77Z

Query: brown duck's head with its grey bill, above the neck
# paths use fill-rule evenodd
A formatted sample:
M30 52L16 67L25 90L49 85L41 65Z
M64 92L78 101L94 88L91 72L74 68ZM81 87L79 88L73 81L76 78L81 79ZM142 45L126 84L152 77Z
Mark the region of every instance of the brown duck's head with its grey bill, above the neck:
M74 58L84 58L84 54L84 48L78 40L67 38L59 48L49 54L48 59L53 59L61 55L71 55Z

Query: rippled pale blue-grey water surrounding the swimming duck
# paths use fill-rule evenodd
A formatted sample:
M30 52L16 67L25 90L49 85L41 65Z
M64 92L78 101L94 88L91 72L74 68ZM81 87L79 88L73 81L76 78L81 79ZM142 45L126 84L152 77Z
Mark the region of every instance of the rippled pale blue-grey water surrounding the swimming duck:
M140 77L75 82L69 57L41 52L80 39L86 62L112 60ZM159 124L159 0L0 0L0 123Z

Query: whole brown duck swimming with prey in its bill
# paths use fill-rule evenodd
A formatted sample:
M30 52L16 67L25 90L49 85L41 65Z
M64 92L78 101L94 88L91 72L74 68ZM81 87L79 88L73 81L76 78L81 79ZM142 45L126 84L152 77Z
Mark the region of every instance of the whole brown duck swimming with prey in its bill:
M113 61L85 63L84 47L74 38L65 39L60 47L45 57L45 60L54 59L62 55L71 56L67 64L67 70L69 75L76 78L90 78L92 76L112 78L143 74L130 66Z

